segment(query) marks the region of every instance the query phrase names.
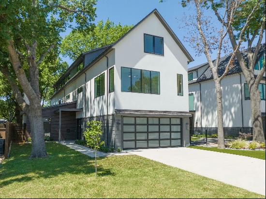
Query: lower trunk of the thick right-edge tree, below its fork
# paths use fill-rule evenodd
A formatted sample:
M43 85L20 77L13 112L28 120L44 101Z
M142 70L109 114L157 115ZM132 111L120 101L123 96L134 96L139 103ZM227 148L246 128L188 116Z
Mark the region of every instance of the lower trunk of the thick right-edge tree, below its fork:
M255 84L250 85L250 98L251 98L251 115L252 115L252 127L253 127L253 140L259 142L265 142L263 124L261 117L261 99L260 92Z

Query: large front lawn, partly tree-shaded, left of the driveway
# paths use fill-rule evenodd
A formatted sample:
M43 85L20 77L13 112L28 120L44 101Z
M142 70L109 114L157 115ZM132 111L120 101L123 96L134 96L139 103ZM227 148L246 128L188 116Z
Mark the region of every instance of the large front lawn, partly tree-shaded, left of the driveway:
M1 198L265 198L135 155L94 160L57 143L29 160L30 144L13 144L0 165Z

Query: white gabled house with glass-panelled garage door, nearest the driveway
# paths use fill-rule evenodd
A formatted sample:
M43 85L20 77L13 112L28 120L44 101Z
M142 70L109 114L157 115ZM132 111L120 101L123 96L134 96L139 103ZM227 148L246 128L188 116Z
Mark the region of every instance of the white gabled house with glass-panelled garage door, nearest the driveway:
M54 119L44 116L53 128L51 137L61 140L72 134L80 139L86 122L97 119L103 122L109 147L189 145L190 61L191 55L153 10L114 44L81 54L59 78L52 106L45 108L46 113L53 109ZM62 107L73 103L76 107ZM75 112L75 118L68 112ZM68 128L73 121L76 131Z

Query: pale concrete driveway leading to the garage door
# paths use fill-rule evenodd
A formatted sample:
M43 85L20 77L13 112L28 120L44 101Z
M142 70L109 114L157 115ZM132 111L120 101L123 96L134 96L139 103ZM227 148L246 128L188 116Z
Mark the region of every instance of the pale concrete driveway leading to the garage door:
M191 148L128 150L163 164L265 195L265 160Z

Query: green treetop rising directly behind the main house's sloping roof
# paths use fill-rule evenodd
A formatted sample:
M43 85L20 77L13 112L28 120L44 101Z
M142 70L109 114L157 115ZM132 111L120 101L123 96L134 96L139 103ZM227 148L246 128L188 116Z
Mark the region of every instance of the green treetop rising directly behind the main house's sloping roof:
M116 42L132 27L120 23L116 25L107 19L105 23L99 21L92 31L72 31L62 41L61 54L75 60L81 53Z

